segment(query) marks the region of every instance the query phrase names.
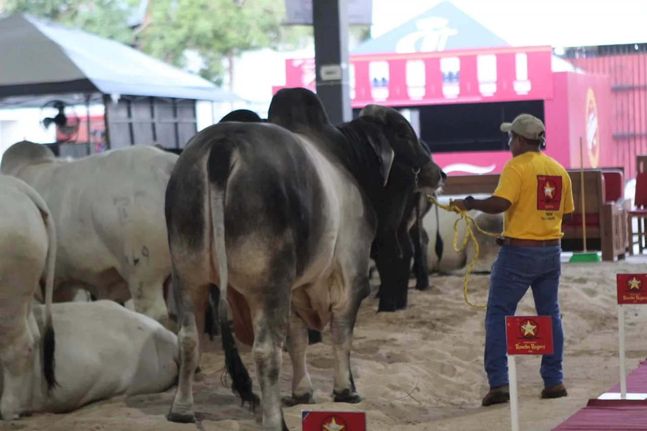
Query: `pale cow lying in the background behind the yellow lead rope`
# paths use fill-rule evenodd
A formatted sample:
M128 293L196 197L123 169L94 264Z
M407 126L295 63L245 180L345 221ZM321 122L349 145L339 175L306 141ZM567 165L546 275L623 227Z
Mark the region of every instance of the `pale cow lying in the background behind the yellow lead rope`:
M439 201L448 204L446 198ZM474 217L476 224L485 232L501 234L503 231L503 214L485 214L477 210L468 211L468 214ZM427 263L430 272L439 272L441 274L464 269L474 259L476 247L474 241L470 238L467 247L462 252L454 250L454 222L459 217L455 212L448 212L442 208L433 206L432 209L422 219L422 227L429 236L429 246L427 251ZM466 225L464 221L459 221L458 237L456 247L460 249L465 238ZM496 259L499 246L496 245L494 237L486 236L476 230L472 225L472 231L476 236L479 244L479 256L472 267L472 272L490 272L492 263ZM437 247L438 243L438 247Z

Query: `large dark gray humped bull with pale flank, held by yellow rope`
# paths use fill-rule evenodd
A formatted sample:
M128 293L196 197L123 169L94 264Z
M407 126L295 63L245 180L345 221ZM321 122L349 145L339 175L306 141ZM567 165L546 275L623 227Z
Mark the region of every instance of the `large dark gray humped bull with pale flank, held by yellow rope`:
M419 157L424 151L415 132L390 108L369 105L338 130L314 93L282 89L268 122L275 124L224 122L200 131L168 183L172 285L181 313L170 421L195 421L197 328L209 283L221 286L221 338L232 390L252 407L258 397L228 326L227 302L236 337L253 344L266 429L287 431L279 385L286 334L294 372L292 397L284 401L314 402L305 362L308 327L331 324L334 401L360 401L350 368L352 333L370 292L369 252L384 184L394 155L409 163L409 171L430 160ZM440 169L424 180L421 187L436 190Z

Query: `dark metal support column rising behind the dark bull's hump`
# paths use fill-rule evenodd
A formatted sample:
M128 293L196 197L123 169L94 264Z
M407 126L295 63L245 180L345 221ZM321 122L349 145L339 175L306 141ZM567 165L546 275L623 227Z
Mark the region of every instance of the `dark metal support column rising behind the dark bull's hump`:
M313 0L316 91L337 126L353 119L346 0Z

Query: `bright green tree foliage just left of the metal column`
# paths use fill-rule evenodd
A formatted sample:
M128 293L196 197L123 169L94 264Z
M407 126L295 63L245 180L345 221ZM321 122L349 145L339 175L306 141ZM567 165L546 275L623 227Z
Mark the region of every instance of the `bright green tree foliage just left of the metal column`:
M283 26L283 0L153 0L138 46L149 54L182 65L182 52L192 49L204 60L200 74L220 82L227 61L261 48L305 46L312 28Z

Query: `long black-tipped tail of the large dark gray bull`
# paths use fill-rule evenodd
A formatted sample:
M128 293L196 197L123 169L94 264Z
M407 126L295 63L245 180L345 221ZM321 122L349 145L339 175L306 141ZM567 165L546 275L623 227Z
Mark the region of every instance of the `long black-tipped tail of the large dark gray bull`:
M220 318L221 340L225 351L225 368L232 378L232 392L243 401L250 403L252 410L259 403L258 395L252 390L252 379L245 364L241 360L232 327L228 324L227 316L227 254L225 247L225 193L229 173L234 164L234 143L221 142L215 144L209 154L207 162L207 176L209 179L209 200L211 204L211 217L214 226L214 250L218 260L220 280L220 298L218 301L218 314Z

